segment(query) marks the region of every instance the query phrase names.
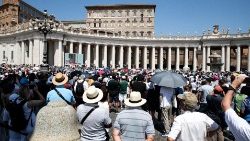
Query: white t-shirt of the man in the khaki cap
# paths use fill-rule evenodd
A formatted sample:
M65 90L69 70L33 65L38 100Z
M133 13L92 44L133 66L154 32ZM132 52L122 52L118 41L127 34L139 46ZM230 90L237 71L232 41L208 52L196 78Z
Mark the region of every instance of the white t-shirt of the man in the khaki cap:
M176 141L206 141L207 131L218 127L206 114L186 111L174 119L168 137Z

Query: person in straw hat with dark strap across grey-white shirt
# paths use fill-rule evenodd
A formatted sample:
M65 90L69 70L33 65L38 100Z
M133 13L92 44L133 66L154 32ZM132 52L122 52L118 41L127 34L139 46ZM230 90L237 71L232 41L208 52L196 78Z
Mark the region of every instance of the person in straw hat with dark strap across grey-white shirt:
M106 130L112 126L109 112L98 106L98 102L103 98L102 90L90 86L83 94L83 101L85 104L81 104L77 107L77 117L82 124L81 127L81 140L82 141L105 141ZM94 109L83 121L83 118L87 113Z

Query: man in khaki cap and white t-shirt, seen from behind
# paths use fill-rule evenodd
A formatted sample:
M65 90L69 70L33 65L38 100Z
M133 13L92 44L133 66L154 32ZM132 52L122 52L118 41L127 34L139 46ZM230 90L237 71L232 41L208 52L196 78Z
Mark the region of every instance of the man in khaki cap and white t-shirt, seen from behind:
M174 119L167 141L205 141L207 132L215 132L219 128L206 114L195 112L198 103L195 94L179 94L178 98L182 100L181 107L184 113Z

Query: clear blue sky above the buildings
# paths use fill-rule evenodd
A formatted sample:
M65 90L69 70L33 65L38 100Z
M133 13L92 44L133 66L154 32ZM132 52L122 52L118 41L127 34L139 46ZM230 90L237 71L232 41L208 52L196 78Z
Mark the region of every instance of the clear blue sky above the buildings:
M87 5L156 4L156 35L196 34L212 29L250 28L250 0L24 0L39 10L47 9L59 20L85 19Z

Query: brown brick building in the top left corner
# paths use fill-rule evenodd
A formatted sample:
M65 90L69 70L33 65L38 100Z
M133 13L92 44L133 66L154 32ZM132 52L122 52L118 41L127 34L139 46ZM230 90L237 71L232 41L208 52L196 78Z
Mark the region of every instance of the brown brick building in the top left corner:
M0 6L0 28L14 27L31 18L43 18L43 13L22 0L3 0Z

